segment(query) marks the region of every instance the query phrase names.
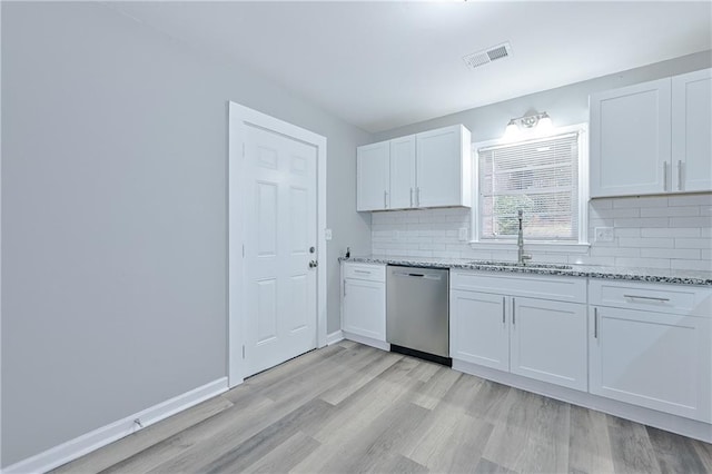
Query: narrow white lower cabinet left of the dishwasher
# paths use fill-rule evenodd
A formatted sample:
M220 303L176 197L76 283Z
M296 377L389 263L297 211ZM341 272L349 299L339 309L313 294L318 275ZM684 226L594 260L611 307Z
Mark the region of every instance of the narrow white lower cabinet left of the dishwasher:
M385 266L344 263L342 270L342 330L385 343Z

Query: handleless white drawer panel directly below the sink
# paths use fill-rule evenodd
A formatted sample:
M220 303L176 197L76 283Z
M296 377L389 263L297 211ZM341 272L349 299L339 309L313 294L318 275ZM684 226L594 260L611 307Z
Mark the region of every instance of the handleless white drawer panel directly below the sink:
M586 303L586 280L578 277L538 276L514 271L497 275L478 271L451 271L451 288Z

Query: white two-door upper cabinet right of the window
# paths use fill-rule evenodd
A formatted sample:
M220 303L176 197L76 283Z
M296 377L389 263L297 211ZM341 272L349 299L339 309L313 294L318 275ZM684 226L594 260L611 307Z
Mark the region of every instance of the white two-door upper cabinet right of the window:
M712 69L591 95L591 197L712 190Z

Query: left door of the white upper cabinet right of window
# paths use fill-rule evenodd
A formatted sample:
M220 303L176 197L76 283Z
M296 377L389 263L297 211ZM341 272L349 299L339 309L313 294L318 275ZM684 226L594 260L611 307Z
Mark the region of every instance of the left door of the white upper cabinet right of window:
M591 197L670 190L670 83L591 95Z

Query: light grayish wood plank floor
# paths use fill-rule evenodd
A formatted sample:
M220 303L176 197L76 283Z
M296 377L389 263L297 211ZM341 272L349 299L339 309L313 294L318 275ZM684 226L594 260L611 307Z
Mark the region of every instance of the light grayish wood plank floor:
M352 342L56 472L708 473L712 445Z

